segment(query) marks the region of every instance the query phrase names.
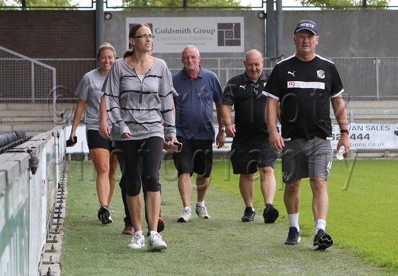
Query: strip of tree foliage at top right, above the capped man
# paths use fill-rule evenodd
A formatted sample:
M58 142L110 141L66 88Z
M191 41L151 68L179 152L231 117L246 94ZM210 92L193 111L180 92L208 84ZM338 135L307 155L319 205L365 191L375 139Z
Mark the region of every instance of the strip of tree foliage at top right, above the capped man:
M363 0L301 0L301 5L307 7L309 5L315 5L317 7L322 7L323 10L360 10L364 5ZM378 10L386 10L390 0L366 0L367 8L369 6L378 6L379 8L372 8ZM338 8L338 7L342 8ZM333 7L333 8L327 8ZM345 8L350 7L350 8ZM353 8L351 8L353 7ZM354 8L355 7L355 8Z

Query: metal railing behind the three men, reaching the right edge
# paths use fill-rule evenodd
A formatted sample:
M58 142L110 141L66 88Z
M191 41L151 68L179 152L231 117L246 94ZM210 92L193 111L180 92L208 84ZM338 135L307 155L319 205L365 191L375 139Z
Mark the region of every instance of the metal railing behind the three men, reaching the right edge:
M344 96L351 100L398 100L398 58L329 58L335 63L344 86ZM169 70L174 74L183 68L179 58L165 58ZM267 62L268 61L268 62ZM266 58L266 73L279 60ZM243 58L201 58L205 69L215 72L222 87L233 76L244 71Z

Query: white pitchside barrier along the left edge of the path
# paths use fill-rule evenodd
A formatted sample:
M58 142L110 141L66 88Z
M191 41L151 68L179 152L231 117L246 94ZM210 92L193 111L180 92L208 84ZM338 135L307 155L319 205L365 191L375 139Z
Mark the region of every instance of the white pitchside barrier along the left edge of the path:
M0 275L42 275L65 152L57 126L0 155Z

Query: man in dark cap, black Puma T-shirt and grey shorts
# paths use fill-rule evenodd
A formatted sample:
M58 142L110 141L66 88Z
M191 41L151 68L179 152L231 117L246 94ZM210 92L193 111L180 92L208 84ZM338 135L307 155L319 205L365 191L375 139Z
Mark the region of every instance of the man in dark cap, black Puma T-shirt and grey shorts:
M338 148L349 154L347 114L341 93L344 91L333 62L315 54L319 36L316 23L303 20L294 30L296 54L279 62L264 89L268 96L266 122L272 149L282 151L283 196L288 211L289 233L285 244L300 242L299 203L301 179L309 177L315 220L313 250L325 250L333 244L325 232L329 198L327 177L331 169L330 103L340 126ZM281 135L277 129L280 102Z

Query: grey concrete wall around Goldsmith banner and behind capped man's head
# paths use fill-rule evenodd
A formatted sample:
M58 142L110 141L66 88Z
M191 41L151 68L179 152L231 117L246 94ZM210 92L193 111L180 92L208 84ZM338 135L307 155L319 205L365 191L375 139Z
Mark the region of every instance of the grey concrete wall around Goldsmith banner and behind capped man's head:
M245 51L256 48L265 52L264 20L259 11L140 11L111 12L113 19L105 22L105 39L122 56L126 45L128 17L191 17L244 16ZM393 57L397 56L397 10L284 11L283 55L294 54L293 31L302 19L315 21L320 36L317 53L325 57ZM183 24L183 22L182 22ZM156 47L156 45L155 45ZM156 49L158 51L158 49ZM161 50L159 50L161 51ZM160 58L179 58L179 54L156 54ZM202 57L242 57L243 52L201 54Z

